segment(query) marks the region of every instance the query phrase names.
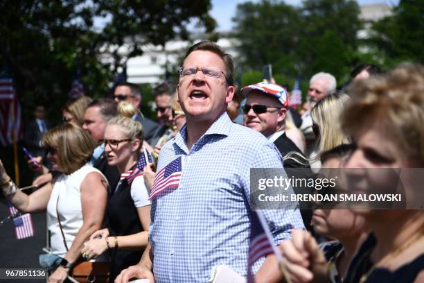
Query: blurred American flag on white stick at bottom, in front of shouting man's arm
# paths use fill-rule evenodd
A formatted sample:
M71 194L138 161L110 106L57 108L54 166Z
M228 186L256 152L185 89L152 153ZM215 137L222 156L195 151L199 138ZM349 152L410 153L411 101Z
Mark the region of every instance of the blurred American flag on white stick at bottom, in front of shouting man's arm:
M252 232L250 245L249 245L249 257L247 259L247 282L254 282L254 274L252 272L252 267L255 262L260 259L260 257L266 257L270 255L272 252L277 257L277 260L281 260L281 255L279 254L276 246L274 245L274 240L272 239L270 228L268 228L267 221L265 220L262 212L260 210L256 210L256 216L253 218L256 221L252 221L252 223L258 223L259 225L254 225Z

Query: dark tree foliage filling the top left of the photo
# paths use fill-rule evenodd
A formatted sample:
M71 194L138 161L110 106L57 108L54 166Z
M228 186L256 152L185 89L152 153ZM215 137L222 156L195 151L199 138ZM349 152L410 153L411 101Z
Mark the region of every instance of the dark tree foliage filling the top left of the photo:
M24 109L44 103L58 117L77 69L86 94L103 97L141 46L186 38L188 22L213 31L210 8L210 0L0 1L0 68L12 71Z

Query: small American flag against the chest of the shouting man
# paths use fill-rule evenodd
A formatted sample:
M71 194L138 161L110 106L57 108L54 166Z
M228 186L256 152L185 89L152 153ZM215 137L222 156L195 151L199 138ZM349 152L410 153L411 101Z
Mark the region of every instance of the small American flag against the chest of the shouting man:
M150 198L154 198L157 194L160 194L166 189L174 188L177 189L179 186L179 181L181 180L182 175L182 158L178 157L170 164L166 165L161 171L156 173L154 177L154 182L152 190L150 191Z

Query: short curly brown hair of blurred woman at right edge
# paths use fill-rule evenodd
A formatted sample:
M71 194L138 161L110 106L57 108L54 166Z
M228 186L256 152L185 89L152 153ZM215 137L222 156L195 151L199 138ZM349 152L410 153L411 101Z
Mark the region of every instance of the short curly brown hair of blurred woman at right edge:
M382 76L355 81L342 116L349 135L378 126L407 158L424 162L424 67L400 65Z

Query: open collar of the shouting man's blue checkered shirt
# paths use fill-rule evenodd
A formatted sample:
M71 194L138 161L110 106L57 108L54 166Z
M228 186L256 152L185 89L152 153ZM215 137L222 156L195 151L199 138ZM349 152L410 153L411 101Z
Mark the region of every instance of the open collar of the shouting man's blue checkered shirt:
M200 137L198 141L196 141L196 144L199 143L199 141L202 141L209 135L224 135L228 136L229 132L231 130L231 126L233 125L233 122L231 122L231 119L229 119L229 116L227 112L223 112L220 117L218 117L213 124L209 127L208 130ZM188 147L186 144L186 137L187 137L187 123L184 124L184 126L179 130L177 135L174 138L175 144L179 146L183 151L188 153Z

